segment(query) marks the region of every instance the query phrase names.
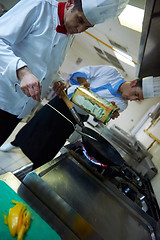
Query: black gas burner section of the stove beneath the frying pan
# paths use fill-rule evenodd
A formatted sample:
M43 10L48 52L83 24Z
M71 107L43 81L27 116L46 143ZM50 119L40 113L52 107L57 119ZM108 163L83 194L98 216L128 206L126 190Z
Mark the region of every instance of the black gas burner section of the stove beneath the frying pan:
M105 180L109 180L144 212L156 221L160 220L160 209L147 176L142 176L126 162L122 166L111 166L107 162L102 164L98 159L89 156L81 141L69 144L66 148L76 160L87 167L104 184Z

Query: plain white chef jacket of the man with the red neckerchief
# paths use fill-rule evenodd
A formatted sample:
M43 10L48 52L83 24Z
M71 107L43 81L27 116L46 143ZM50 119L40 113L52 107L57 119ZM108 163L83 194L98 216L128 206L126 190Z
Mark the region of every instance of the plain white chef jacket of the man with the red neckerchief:
M56 31L55 0L21 0L0 18L0 109L26 117L37 101L15 83L16 70L27 65L42 84L42 97L71 46L73 35Z

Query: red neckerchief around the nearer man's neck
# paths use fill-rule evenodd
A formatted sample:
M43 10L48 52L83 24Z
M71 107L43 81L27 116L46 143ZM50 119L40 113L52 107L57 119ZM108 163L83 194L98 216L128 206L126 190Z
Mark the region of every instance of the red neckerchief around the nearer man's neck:
M66 4L65 2L58 3L58 16L59 16L60 25L56 27L56 31L63 34L67 34L67 30L64 26L64 21L63 21L65 4Z

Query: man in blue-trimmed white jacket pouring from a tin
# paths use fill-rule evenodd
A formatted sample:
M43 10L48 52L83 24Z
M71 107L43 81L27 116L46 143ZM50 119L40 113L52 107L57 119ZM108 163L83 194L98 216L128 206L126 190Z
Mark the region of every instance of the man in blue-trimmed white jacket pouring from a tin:
M157 81L156 81L157 80ZM74 89L83 85L90 88L101 97L110 102L115 102L120 108L120 112L127 107L128 100L143 100L152 97L150 91L147 93L147 86L154 89L154 84L158 84L158 79L150 77L146 79L135 79L126 81L116 70L116 68L106 65L86 66L73 73L70 77L71 87L67 89L69 97ZM158 85L156 84L156 88ZM55 83L58 89L59 84ZM152 86L152 88L151 88ZM152 91L152 90L151 90ZM154 92L152 92L154 95ZM160 81L159 81L160 95ZM68 107L59 96L53 98L49 104L63 113L75 124ZM77 108L83 121L88 118L88 113L81 108ZM118 117L119 113L114 117ZM66 139L73 133L73 125L64 117L57 113L50 106L45 105L36 115L18 132L16 138L11 143L6 143L0 147L1 151L9 151L15 147L20 147L26 156L34 163L34 167L52 160L64 145Z

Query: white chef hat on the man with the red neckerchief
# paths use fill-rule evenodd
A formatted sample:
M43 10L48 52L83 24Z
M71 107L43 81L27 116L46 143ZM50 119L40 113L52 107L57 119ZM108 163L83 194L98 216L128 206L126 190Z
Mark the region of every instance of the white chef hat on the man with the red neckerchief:
M118 16L128 2L129 0L82 0L82 9L87 20L95 25Z

